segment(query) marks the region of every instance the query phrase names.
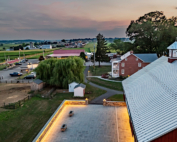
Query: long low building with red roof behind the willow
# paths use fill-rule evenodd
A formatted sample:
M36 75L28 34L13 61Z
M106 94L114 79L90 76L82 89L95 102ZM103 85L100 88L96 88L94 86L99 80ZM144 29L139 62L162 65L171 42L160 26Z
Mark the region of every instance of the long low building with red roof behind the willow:
M85 50L55 50L53 51L53 54L47 55L46 57L66 58L69 56L80 56L81 52L85 53Z

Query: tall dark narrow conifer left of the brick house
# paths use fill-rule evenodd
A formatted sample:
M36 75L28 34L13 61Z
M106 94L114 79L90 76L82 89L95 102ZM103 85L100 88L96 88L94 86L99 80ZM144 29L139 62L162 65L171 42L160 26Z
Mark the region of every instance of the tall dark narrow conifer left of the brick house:
M104 61L106 51L107 49L107 43L103 35L100 33L97 35L97 50L95 53L95 60L99 62L99 67L100 67L100 62Z

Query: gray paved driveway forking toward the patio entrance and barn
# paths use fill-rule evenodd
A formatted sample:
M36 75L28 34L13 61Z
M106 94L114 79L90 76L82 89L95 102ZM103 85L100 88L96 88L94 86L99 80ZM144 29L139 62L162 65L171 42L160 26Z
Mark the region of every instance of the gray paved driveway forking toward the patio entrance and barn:
M89 70L89 67L86 67L85 68L85 71L84 71L84 81L87 83L88 80L86 78L87 76L87 73L88 73L88 70ZM92 82L89 82L90 85L94 86L94 87L97 87L97 88L100 88L100 89L103 89L103 90L106 90L107 92L97 98L95 98L94 100L92 100L90 103L91 104L102 104L103 103L103 99L107 99L115 94L123 94L122 91L117 91L117 90L113 90L113 89L109 89L109 88L105 88L105 87L102 87L102 86L99 86L97 84L94 84Z

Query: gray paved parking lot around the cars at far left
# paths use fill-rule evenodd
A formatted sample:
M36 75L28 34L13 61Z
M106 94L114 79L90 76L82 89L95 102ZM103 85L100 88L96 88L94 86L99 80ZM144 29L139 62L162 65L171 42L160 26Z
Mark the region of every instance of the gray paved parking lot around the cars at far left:
M29 59L28 62L31 63L35 63L37 61L37 59ZM15 80L18 77L11 77L9 74L13 73L13 72L20 72L21 71L21 67L27 67L27 63L22 63L22 65L19 66L15 66L12 69L7 69L7 70L1 70L0 71L0 76L3 76L3 80Z

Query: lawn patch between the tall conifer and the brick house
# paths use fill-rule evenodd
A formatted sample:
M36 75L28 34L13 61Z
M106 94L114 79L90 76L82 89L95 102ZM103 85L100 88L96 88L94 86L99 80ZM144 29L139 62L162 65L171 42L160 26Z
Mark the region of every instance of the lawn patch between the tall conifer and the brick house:
M102 74L111 72L111 66L101 66L101 67L95 66L95 70L94 67L91 66L89 68L89 71L90 71L89 76L101 76Z

